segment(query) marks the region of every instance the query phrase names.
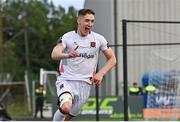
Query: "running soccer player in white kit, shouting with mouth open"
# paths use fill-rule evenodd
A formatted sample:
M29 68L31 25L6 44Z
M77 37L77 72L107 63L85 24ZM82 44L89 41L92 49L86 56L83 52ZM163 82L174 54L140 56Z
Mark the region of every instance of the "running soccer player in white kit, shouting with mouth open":
M103 76L116 64L115 55L106 39L91 31L94 20L93 10L81 9L78 12L77 30L64 34L52 51L52 59L63 59L64 66L64 73L56 81L59 109L53 121L68 121L76 116L88 99L92 84L100 85ZM107 62L96 73L100 51Z

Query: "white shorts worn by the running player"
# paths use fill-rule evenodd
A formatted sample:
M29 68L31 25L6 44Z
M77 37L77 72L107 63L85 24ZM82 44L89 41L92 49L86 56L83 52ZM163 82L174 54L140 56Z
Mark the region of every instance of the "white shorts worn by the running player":
M73 105L71 112L72 116L77 116L82 109L83 104L87 101L91 91L91 84L85 81L66 81L58 77L56 81L57 96L64 92L69 92L73 97Z

